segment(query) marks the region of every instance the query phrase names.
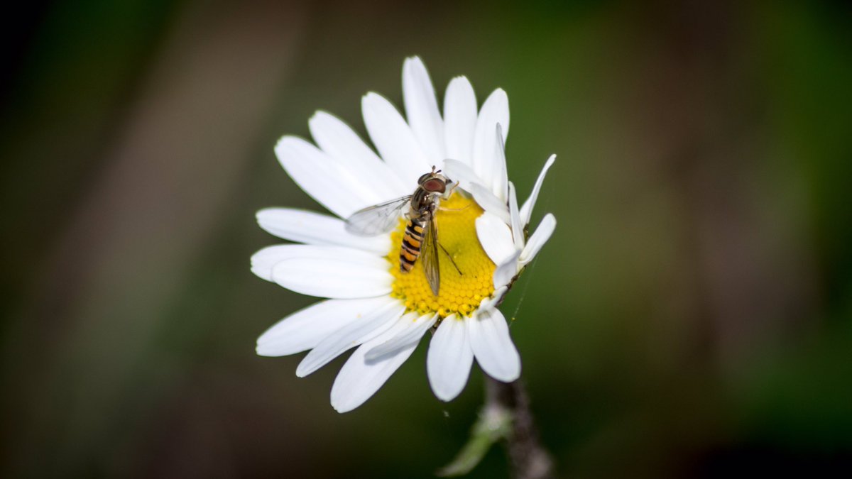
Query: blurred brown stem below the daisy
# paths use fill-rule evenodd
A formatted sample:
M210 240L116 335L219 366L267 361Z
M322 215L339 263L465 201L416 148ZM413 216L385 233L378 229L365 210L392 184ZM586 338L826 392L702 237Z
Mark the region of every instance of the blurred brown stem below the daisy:
M553 460L538 439L529 396L521 379L501 383L486 377L486 404L484 409L504 410L509 413L511 426L505 436L506 452L514 479L550 479L554 476Z

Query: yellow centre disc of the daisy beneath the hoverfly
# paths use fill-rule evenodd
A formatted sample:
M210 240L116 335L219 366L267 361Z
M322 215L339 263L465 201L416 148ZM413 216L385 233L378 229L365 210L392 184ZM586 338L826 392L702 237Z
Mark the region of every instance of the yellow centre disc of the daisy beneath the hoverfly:
M496 265L476 235L475 221L482 212L480 205L462 193L452 193L449 199L441 200L435 213L440 268L438 296L432 293L423 272L422 252L411 271L400 271L400 246L407 223L401 220L399 228L391 234L393 246L388 253L390 273L394 275L391 296L405 302L408 311L421 315L438 313L440 318L446 318L473 313L494 292L492 278Z

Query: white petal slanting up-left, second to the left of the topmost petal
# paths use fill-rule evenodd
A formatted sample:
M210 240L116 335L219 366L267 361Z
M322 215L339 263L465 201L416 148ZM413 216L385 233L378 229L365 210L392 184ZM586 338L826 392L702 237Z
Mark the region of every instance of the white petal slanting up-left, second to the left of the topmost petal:
M308 125L317 145L359 182L369 186L376 194L376 203L411 194L411 188L343 120L331 113L317 112Z

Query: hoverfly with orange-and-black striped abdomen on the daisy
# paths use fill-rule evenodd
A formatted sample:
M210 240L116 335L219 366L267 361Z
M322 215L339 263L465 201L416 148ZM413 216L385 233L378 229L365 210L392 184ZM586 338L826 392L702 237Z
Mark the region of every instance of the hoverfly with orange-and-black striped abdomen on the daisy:
M435 211L438 209L440 197L448 192L446 187L450 183L452 181L441 175L440 170L435 170L433 166L431 172L417 179L417 189L414 193L355 211L346 219L346 230L361 236L388 233L398 224L400 213L407 206L408 211L405 212L405 216L408 222L402 245L400 245L400 271L403 273L411 271L417 258L422 256L426 280L429 281L432 292L438 296L440 288L438 248L443 249L443 246L438 243ZM449 192L452 192L456 186L458 182L449 189ZM449 253L446 250L444 252L453 266L456 266ZM458 270L458 266L456 269Z

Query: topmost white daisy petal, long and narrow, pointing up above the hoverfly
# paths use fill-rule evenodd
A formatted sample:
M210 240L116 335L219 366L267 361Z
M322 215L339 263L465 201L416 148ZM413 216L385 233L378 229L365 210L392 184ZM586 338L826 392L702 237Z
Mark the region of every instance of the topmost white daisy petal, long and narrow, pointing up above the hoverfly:
M402 66L402 96L406 104L406 118L414 136L432 164L440 164L446 157L444 151L444 121L440 119L438 101L429 72L419 58L406 59Z

